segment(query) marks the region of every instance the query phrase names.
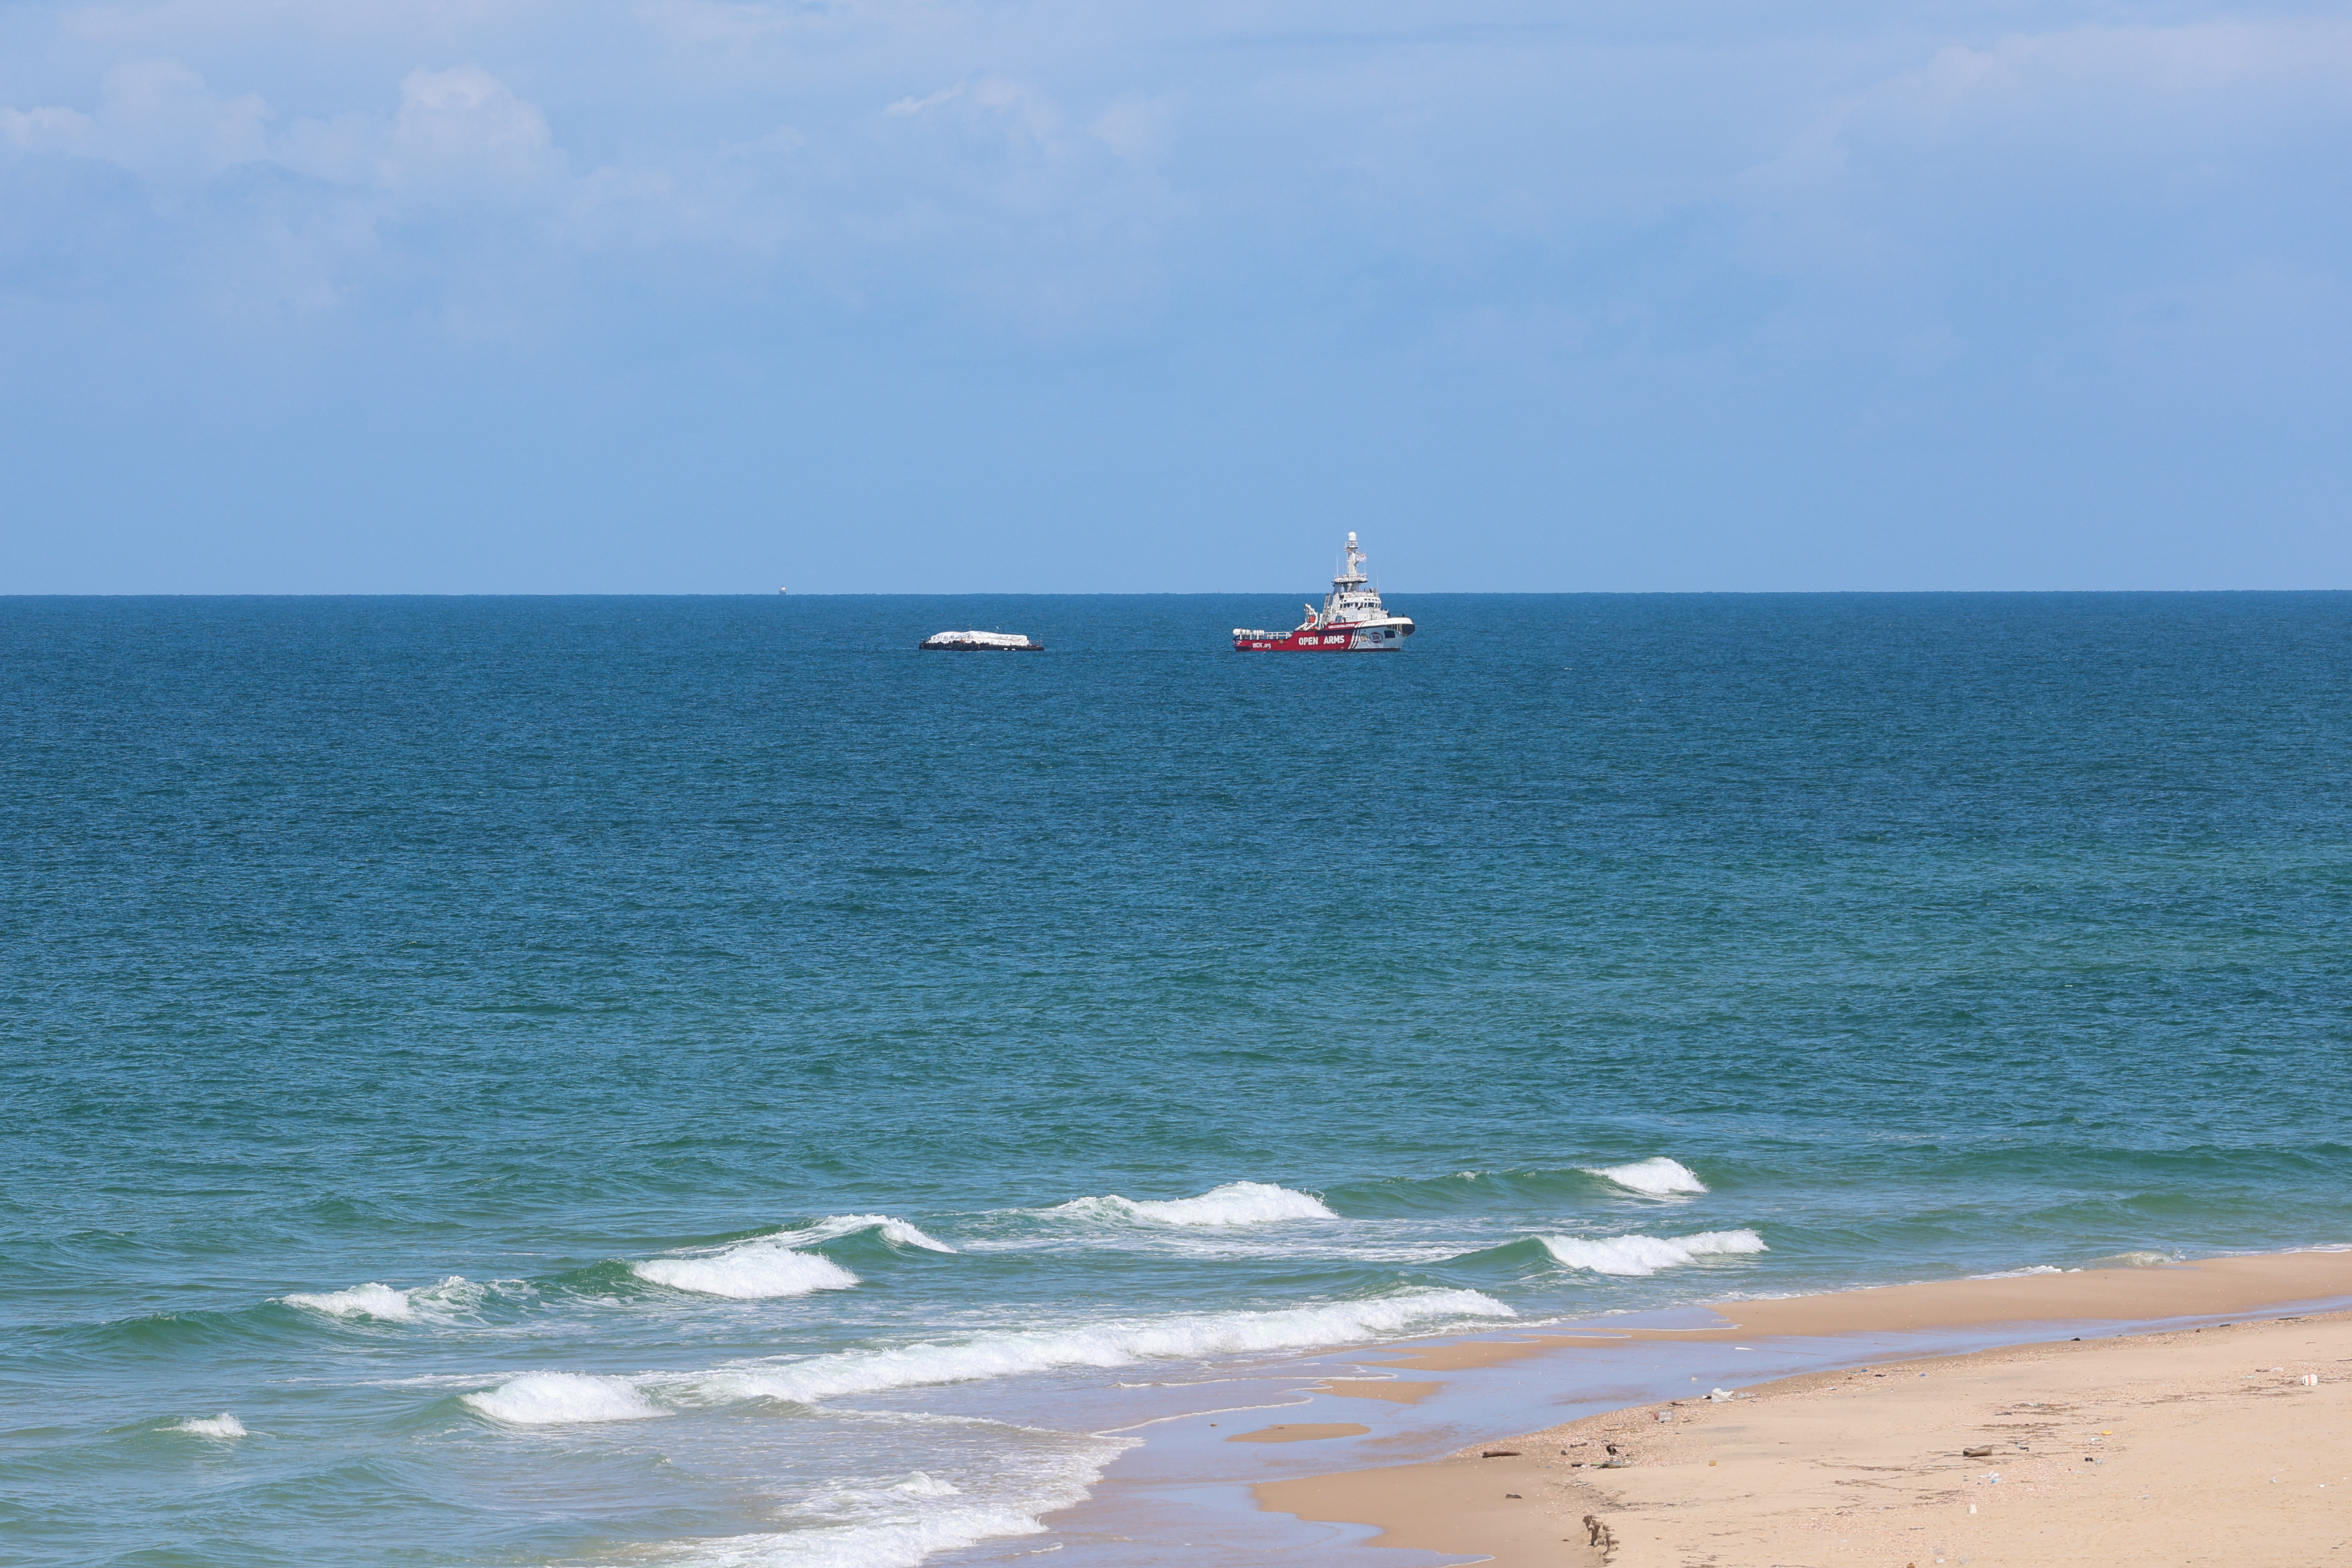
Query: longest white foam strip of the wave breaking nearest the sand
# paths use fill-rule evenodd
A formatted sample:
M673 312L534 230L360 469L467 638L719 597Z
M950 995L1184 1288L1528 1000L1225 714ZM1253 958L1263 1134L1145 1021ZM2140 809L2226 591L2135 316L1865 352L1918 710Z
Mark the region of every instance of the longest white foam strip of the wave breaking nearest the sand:
M1378 1340L1444 1319L1517 1316L1477 1291L1414 1291L1376 1300L1284 1307L1275 1312L1188 1312L1150 1319L1110 1319L1070 1328L978 1333L953 1345L844 1349L783 1366L739 1366L682 1380L659 1380L654 1392L680 1403L790 1399L818 1403L842 1394L877 1394L929 1382L1016 1378L1063 1366L1131 1366L1155 1359L1235 1356L1308 1345ZM649 1380L652 1382L652 1380Z

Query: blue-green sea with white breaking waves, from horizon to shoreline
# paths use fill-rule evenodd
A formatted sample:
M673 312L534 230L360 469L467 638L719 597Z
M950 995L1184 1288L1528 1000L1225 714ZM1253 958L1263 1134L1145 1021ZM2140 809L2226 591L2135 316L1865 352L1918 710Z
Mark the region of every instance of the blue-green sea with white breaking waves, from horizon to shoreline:
M7 1554L985 1556L1235 1359L2352 1241L2352 595L1392 599L0 599Z

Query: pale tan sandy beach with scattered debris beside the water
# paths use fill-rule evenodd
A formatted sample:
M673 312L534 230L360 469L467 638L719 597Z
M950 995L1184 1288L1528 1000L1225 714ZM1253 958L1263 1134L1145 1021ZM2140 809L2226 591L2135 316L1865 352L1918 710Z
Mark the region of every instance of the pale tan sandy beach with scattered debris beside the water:
M2286 1253L1726 1302L1726 1324L1696 1333L2039 1321L2089 1338L2053 1328L1632 1406L1256 1495L1303 1519L1376 1523L1371 1544L1503 1568L2352 1563L2352 1314L2296 1309L2345 1293L2352 1253ZM2126 1312L2244 1316L2098 1328ZM1517 1354L1573 1342L1531 1338Z

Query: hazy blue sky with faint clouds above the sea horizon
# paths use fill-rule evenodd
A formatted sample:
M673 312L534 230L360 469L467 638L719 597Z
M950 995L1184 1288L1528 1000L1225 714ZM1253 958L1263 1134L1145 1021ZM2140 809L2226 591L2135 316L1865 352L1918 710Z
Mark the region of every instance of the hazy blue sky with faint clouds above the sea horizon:
M0 592L2352 588L2343 5L0 2Z

